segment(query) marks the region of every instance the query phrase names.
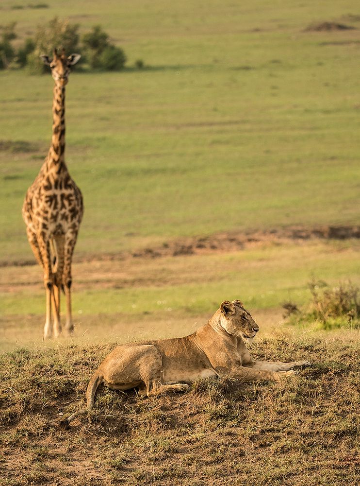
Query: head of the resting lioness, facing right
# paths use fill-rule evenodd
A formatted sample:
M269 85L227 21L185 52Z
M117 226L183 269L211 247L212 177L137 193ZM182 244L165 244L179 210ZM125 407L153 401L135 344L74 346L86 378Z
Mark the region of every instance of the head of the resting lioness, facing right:
M220 306L220 324L231 336L241 337L245 343L251 343L259 326L246 311L240 300L224 300Z

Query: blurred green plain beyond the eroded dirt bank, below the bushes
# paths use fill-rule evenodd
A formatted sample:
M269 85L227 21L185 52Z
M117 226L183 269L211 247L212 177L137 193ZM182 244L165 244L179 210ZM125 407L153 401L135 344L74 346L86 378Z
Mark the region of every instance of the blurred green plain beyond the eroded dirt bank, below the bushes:
M51 18L54 5L4 5L2 14L21 32L33 18ZM316 17L355 11L355 2L313 11L307 2L246 9L213 1L206 13L181 2L155 29L161 5L137 2L123 17L116 2L76 17L84 28L100 22L115 38L121 32L129 62L141 57L151 68L71 75L66 156L85 200L77 253L233 229L355 224L359 31L303 32ZM71 3L73 16L81 9ZM20 209L47 153L52 80L0 77L1 138L38 147L1 154L0 258L16 261L32 258Z

